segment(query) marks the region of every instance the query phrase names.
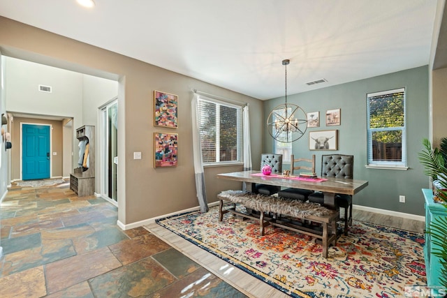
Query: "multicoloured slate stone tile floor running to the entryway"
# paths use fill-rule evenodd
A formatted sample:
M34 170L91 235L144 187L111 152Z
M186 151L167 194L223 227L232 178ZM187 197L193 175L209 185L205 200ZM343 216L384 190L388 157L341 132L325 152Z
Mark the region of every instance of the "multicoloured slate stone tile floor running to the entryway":
M68 182L13 184L0 205L0 297L247 297Z

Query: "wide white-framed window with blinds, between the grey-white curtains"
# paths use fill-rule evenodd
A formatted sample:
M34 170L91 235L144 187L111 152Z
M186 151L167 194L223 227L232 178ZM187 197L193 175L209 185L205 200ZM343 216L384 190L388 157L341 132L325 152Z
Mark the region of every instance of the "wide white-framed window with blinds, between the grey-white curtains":
M242 163L242 107L200 97L203 165Z

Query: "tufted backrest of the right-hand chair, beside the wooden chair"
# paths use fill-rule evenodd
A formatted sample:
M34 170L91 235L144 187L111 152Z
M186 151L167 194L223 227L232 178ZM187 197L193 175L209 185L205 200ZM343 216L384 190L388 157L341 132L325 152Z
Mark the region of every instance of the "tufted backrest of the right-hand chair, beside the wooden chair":
M328 154L321 156L321 177L353 179L354 156Z

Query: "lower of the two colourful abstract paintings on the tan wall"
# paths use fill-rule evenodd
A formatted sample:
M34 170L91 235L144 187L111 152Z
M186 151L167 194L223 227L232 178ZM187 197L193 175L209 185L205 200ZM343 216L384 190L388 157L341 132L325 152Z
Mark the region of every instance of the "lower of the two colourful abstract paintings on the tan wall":
M177 133L154 133L154 167L177 167Z

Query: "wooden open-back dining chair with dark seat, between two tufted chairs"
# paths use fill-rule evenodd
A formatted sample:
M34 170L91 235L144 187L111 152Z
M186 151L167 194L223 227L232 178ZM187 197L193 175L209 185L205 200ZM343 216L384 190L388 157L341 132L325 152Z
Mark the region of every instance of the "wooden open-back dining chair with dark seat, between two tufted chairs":
M295 174L297 170L307 170L307 172L315 172L315 154L312 154L312 158L295 158L291 155L291 174ZM307 201L309 195L312 195L314 191L301 188L286 188L282 191L278 191L279 197Z

